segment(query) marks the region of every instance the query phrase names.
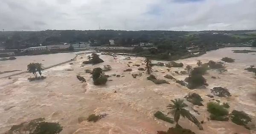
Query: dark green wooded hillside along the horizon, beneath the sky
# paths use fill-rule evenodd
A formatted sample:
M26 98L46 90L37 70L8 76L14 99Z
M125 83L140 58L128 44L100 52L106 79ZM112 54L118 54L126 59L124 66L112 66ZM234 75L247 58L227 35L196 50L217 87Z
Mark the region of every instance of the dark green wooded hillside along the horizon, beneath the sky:
M97 41L97 45L114 40L118 46L153 43L159 48L216 46L224 43L251 43L256 40L256 30L240 31L115 31L115 30L46 30L46 31L1 31L0 47L27 48L39 44L76 43Z

